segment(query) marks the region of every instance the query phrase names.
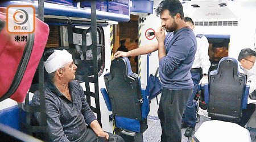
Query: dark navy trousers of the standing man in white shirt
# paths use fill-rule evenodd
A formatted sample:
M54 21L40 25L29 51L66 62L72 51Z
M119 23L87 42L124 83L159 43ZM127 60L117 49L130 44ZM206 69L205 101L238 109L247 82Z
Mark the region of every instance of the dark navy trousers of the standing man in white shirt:
M193 101L196 92L198 90L199 82L200 82L200 72L191 72L192 80L194 83L193 92L190 95L184 114L182 116L182 122L189 127L196 126L196 102Z

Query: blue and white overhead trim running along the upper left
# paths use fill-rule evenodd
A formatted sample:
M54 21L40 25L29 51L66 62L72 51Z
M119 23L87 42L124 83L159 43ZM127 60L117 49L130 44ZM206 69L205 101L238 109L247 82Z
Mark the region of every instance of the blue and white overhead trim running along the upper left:
M2 7L7 7L9 5L32 5L36 9L36 14L38 13L38 2L34 1L9 1L3 2L1 4ZM79 7L73 6L64 6L57 5L54 3L44 3L44 14L45 15L53 15L53 16L67 16L67 17L75 17L75 18L87 18L90 19L90 9L83 9ZM105 11L96 11L97 19L100 20L114 20L118 22L128 22L130 20L130 12L129 15L123 14L115 14Z

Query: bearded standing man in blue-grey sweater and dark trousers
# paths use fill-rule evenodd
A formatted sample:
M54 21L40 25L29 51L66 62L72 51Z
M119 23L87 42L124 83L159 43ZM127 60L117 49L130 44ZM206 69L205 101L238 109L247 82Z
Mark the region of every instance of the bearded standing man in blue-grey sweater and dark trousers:
M159 77L163 85L158 109L161 141L180 142L181 118L193 91L190 70L197 48L196 36L183 20L183 7L179 0L160 2L156 15L161 19L161 26L155 33L157 41L129 52L118 51L113 59L158 50Z

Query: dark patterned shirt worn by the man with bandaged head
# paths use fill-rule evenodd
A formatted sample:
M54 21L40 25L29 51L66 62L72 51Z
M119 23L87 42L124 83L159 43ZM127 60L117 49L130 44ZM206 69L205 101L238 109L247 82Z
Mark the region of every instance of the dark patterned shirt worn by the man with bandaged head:
M73 80L68 83L68 87L72 101L65 98L53 82L47 80L44 84L48 136L51 141L79 141L85 135L86 124L90 126L96 120L79 83ZM33 96L32 105L40 105L39 91ZM40 123L39 112L34 116Z

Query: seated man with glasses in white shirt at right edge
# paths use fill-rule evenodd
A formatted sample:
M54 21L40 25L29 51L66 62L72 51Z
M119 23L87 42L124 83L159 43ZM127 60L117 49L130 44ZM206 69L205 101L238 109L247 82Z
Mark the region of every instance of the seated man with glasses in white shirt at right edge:
M253 68L256 59L256 52L250 48L242 49L238 56L238 71L247 75L246 85L250 86L249 94L255 90L256 76L250 70ZM246 109L242 109L242 117L238 124L245 127L245 124L249 121L251 115L255 111L255 104L247 104Z

